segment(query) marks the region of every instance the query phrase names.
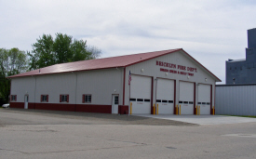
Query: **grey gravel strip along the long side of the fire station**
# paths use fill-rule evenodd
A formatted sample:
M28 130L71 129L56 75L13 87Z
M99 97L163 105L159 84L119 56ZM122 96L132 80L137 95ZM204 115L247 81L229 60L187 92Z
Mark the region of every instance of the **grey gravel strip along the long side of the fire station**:
M147 125L147 126L198 126L180 121L156 119L150 117L118 115L110 113L77 113L45 110L0 109L2 113L32 114L40 116L75 119L85 125ZM3 123L2 123L3 124ZM4 125L22 125L22 122L6 122ZM34 123L33 123L34 124ZM36 124L36 123L35 123ZM0 121L1 126L1 121ZM3 126L3 125L2 125Z

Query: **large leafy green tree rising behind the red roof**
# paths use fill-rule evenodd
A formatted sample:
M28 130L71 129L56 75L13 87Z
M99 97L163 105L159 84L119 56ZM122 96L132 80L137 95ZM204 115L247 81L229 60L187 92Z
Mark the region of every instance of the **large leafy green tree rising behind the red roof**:
M53 40L50 34L43 34L36 39L30 56L30 70L47 67L53 64L78 60L91 60L101 56L101 49L87 46L87 41L73 40L67 34L56 33Z

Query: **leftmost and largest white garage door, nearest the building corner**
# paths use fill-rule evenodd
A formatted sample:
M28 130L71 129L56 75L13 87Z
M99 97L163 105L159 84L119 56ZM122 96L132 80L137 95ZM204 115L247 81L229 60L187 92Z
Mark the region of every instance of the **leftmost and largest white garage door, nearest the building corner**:
M130 102L132 102L132 113L151 113L152 78L131 75L131 79Z

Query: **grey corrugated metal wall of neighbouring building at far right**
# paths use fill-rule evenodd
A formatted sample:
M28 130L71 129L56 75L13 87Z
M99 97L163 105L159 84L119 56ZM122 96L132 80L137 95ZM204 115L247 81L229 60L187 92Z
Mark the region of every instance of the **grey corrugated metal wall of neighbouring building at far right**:
M256 116L256 86L216 86L216 114Z

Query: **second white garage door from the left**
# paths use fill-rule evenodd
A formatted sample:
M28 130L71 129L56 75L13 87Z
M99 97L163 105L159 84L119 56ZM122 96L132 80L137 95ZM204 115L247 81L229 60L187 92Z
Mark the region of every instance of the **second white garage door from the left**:
M173 114L174 81L157 79L156 105L159 114Z

